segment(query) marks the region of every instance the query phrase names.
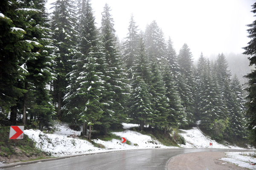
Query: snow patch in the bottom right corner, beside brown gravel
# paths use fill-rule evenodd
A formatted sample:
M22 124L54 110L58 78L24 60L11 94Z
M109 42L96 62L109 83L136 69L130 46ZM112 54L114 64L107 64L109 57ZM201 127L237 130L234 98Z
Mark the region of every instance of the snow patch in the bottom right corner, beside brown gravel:
M256 170L256 165L250 164L256 163L256 158L251 157L251 154L251 152L227 152L227 158L221 158L221 160L236 164L239 167ZM253 154L255 155L255 153Z

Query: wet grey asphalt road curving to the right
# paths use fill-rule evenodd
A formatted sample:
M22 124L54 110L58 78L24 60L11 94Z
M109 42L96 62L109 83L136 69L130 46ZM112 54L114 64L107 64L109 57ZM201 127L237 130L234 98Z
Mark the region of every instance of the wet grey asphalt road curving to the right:
M172 156L182 153L220 151L228 150L199 148L129 150L38 162L8 170L165 170Z

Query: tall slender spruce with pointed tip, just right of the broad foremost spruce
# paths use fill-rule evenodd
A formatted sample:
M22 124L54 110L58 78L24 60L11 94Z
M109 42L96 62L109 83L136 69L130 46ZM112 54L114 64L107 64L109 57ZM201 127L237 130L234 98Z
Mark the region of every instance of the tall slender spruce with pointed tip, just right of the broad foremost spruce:
M101 39L106 54L106 83L105 94L102 101L107 103L104 108L104 114L101 119L102 130L106 134L108 128L120 126L125 121L125 89L124 69L121 68L121 56L116 47L116 36L113 28L114 22L110 14L110 7L105 4L102 12Z

